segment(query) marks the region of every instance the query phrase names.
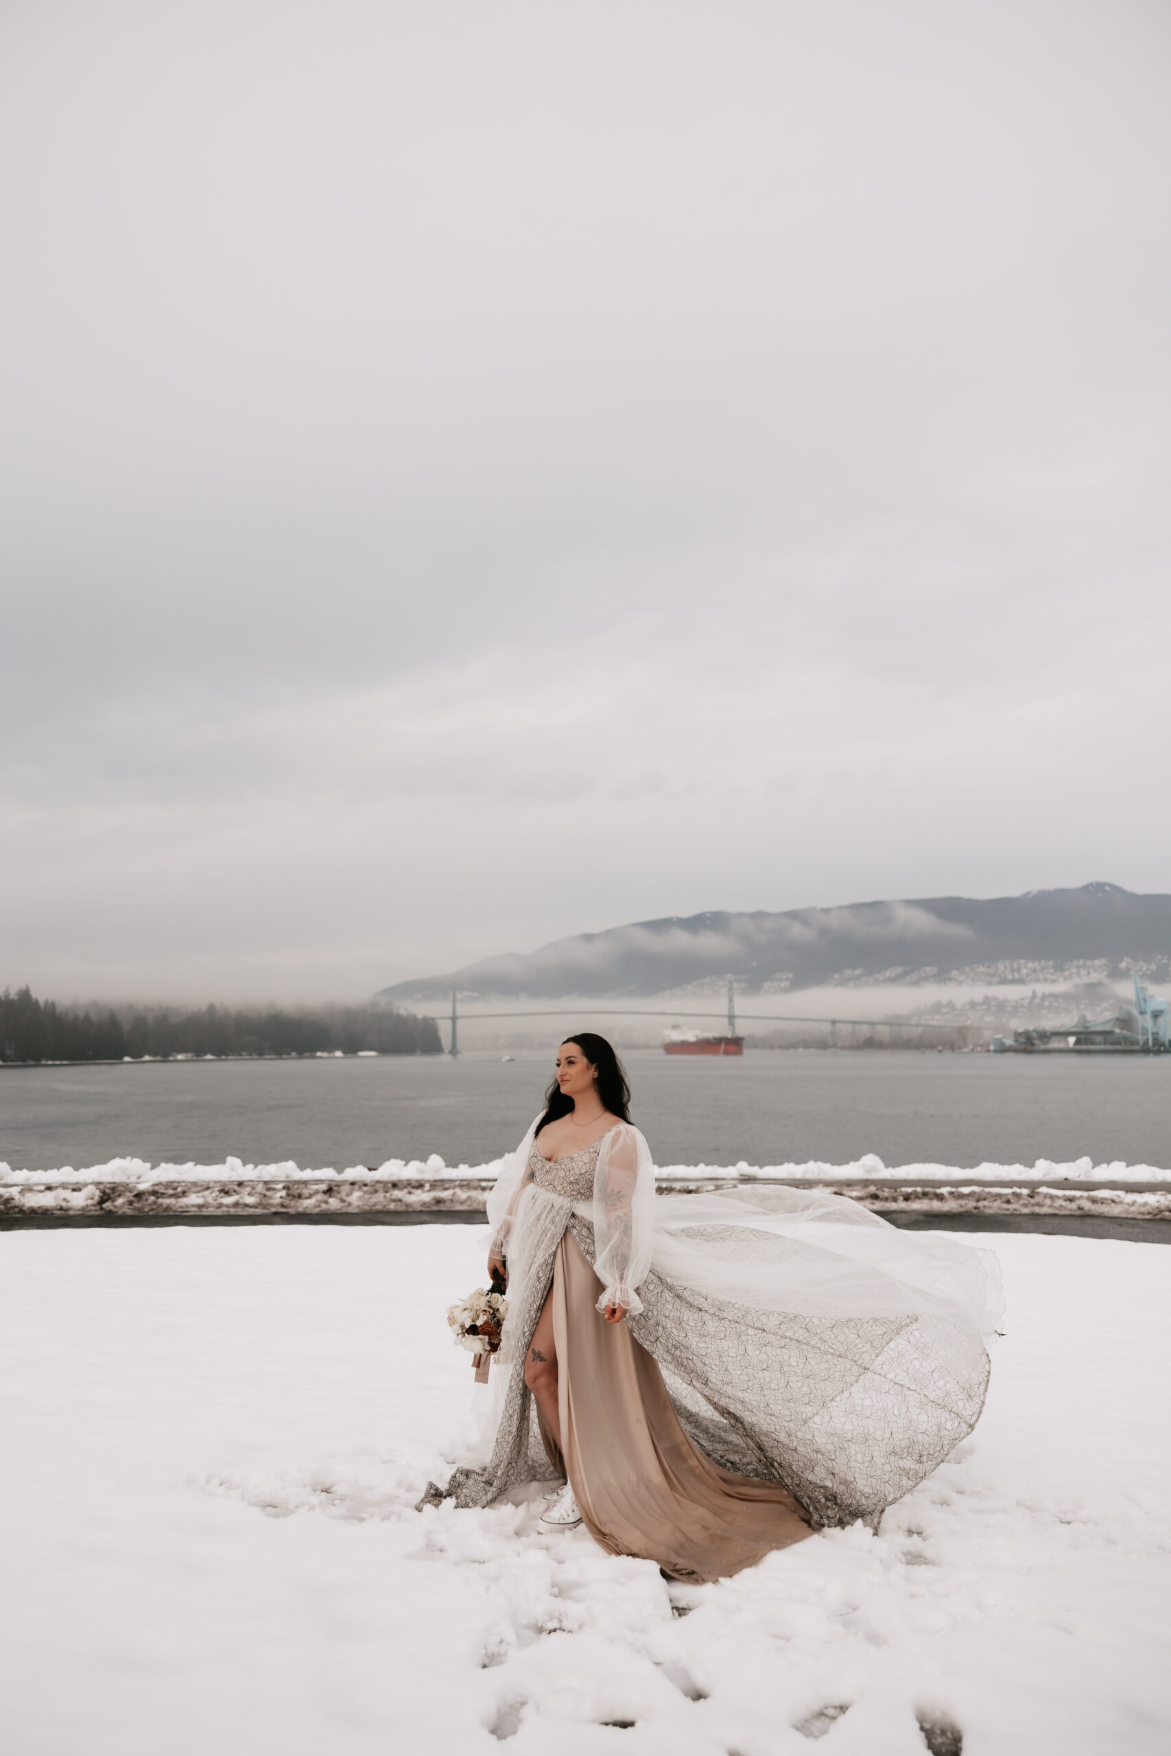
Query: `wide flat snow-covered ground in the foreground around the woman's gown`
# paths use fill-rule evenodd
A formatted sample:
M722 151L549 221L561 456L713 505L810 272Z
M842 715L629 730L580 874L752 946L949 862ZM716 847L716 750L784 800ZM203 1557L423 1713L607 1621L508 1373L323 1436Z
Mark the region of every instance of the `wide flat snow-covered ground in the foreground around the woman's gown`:
M880 1535L667 1587L532 1505L411 1510L469 1431L478 1227L0 1234L4 1747L1164 1752L1171 1250L980 1241L974 1436Z

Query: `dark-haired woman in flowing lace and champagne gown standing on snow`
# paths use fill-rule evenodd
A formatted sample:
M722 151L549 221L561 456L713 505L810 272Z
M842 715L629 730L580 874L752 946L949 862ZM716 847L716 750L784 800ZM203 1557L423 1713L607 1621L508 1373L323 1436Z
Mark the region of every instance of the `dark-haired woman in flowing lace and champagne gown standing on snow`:
M567 1038L488 1198L490 1419L420 1505L560 1477L546 1528L686 1580L874 1524L976 1424L995 1257L820 1189L655 1196L629 1105L606 1038Z

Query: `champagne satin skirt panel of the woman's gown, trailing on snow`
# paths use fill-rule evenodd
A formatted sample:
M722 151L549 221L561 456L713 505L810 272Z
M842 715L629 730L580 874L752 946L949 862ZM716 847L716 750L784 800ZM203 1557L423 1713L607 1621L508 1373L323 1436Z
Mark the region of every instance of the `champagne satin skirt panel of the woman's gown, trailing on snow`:
M553 1335L564 1456L550 1463L609 1554L658 1561L672 1579L725 1579L809 1535L772 1482L732 1475L690 1442L651 1354L595 1310L602 1284L565 1231L553 1266Z

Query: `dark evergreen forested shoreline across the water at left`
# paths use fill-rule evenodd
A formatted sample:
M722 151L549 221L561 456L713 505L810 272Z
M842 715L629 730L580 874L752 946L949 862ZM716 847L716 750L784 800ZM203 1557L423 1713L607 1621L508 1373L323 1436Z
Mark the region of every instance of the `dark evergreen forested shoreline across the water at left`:
M0 994L0 1062L174 1061L256 1055L437 1055L434 1018L393 1006L328 1006L311 1011L198 1011L98 1008L40 1001L26 989Z

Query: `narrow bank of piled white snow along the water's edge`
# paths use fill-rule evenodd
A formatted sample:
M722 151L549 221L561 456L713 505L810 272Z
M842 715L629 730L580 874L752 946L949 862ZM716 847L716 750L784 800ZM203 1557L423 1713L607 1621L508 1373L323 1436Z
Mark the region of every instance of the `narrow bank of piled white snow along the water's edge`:
M242 1159L228 1157L223 1164L149 1164L146 1159L111 1159L105 1164L90 1164L75 1169L72 1164L51 1171L12 1169L0 1162L0 1187L19 1187L25 1184L228 1184L228 1182L425 1182L425 1180L463 1180L495 1178L504 1159L492 1159L486 1164L446 1164L437 1152L428 1159L386 1159L384 1164L351 1164L346 1169L323 1166L304 1168L286 1159L283 1164L246 1164ZM748 1180L753 1177L778 1182L948 1182L948 1184L1036 1184L1052 1182L1136 1182L1166 1184L1171 1182L1171 1169L1153 1164L1125 1164L1115 1159L1111 1164L1096 1164L1092 1159L1074 1159L1069 1164L1053 1159L1038 1159L1027 1164L978 1164L960 1169L953 1164L901 1164L887 1166L876 1154L867 1152L851 1164L827 1164L809 1159L806 1164L660 1164L655 1168L660 1182L695 1182L718 1177Z

